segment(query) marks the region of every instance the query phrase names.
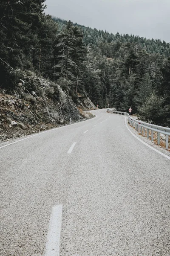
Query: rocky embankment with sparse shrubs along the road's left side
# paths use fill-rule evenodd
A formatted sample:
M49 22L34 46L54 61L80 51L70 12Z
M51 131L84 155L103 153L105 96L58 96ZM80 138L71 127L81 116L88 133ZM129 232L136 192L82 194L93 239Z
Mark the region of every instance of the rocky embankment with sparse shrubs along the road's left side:
M27 89L24 80L19 81L20 90L14 95L1 90L0 141L66 125L70 118L73 122L82 121L91 117L83 111L96 108L90 99L81 95L75 104L57 84L52 87L51 82L37 76L27 80L34 81L41 92L39 96L36 91Z

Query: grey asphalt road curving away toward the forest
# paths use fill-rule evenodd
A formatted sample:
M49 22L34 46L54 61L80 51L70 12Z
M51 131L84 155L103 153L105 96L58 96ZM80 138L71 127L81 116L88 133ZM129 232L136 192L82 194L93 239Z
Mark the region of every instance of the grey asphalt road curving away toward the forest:
M0 255L170 256L170 160L93 113L0 148Z

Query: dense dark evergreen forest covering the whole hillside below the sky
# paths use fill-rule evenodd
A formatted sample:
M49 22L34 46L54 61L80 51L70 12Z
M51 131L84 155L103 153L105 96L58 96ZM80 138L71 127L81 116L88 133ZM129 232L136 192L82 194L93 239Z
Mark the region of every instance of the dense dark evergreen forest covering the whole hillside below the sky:
M75 103L89 96L99 108L131 107L146 121L170 125L169 43L113 35L44 11L44 0L1 1L1 89L12 93L22 79L18 70L31 71L59 84ZM38 90L29 83L27 89Z

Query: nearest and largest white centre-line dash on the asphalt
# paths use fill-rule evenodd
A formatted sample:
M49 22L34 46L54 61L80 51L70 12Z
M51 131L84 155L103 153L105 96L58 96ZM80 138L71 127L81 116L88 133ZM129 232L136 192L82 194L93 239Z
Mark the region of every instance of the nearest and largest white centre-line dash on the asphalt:
M62 223L62 204L52 208L48 227L45 256L59 256L59 239Z

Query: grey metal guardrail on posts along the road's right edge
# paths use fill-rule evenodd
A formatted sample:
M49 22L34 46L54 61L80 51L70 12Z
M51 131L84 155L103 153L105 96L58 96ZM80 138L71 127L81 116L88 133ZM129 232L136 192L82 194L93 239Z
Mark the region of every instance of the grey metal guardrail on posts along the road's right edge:
M149 139L149 130L151 130L151 140L153 141L153 132L157 132L157 143L160 145L160 134L164 134L166 136L166 149L168 150L169 136L170 136L170 128L166 128L159 125L151 125L146 122L138 121L133 119L129 113L115 111L113 108L108 108L108 113L114 113L119 115L124 115L128 117L129 123L132 127L135 127L136 131L139 131L140 134L145 136L145 132L147 132L147 139Z

